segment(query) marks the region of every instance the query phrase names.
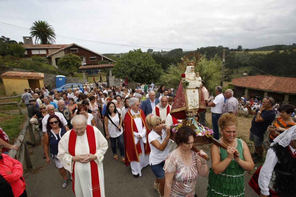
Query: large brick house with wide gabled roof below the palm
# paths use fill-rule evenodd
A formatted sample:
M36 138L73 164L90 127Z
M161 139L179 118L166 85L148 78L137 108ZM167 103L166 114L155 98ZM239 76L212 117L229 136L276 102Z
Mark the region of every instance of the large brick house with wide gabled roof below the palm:
M25 48L24 58L31 58L32 56L40 56L47 59L47 62L57 68L57 61L62 56L68 53L73 53L81 58L81 65L94 65L98 61L107 60L115 62L114 60L103 56L99 53L91 51L75 43L68 45L33 45L24 44Z

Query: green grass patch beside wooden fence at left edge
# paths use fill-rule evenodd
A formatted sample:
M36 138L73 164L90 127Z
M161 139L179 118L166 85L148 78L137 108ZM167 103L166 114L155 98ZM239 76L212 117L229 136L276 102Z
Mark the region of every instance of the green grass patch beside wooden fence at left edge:
M25 115L0 113L0 127L9 136L10 143L20 134L20 130L26 119L27 116Z

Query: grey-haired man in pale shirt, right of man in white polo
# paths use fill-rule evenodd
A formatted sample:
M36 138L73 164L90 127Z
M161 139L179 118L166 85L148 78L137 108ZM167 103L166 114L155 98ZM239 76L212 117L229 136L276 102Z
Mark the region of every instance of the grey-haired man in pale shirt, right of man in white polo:
M239 105L239 102L233 97L233 90L226 89L224 97L226 98L226 103L223 107L222 114L231 113L233 115L237 115L239 110L237 106Z

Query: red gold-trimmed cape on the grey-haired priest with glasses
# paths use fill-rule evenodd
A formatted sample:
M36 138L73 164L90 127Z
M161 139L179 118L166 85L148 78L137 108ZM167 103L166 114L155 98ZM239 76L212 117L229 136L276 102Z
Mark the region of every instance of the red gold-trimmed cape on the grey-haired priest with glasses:
M148 143L148 134L150 133L150 131L146 126L145 114L140 109L140 114L133 116L133 115L131 115L131 109L130 109L130 110L128 110L128 112L126 113L126 115L124 117L124 126L123 126L123 141L124 141L124 152L125 152L126 166L128 166L129 163L133 162L133 161L140 162L139 154L142 154L140 142L135 144L135 140L134 140L134 136L133 136L133 131L138 132L136 123L135 123L135 121L133 121L133 119L135 117L138 118L138 116L142 120L142 125L145 126L145 128L146 128L147 143L146 144L144 143L144 154L150 153L150 146Z

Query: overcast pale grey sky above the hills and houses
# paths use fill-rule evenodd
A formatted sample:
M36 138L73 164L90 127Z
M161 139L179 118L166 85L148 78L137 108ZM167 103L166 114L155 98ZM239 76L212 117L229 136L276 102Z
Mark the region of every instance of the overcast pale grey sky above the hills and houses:
M0 0L0 5L0 22L29 29L45 20L58 35L56 44L76 43L97 53L296 43L294 0ZM7 26L0 23L0 35L16 41L30 35Z

